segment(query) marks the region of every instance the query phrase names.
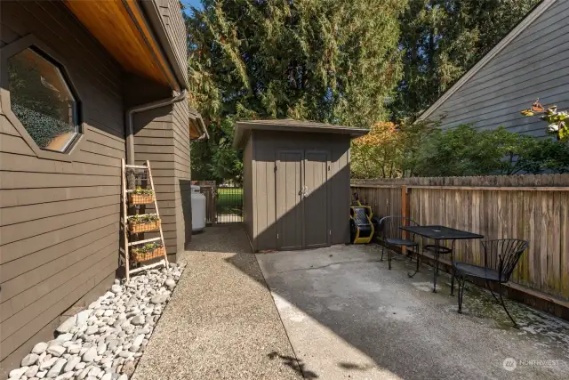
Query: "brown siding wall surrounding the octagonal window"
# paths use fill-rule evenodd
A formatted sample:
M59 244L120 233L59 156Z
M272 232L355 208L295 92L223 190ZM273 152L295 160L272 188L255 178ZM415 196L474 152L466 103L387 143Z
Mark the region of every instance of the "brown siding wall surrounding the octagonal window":
M31 33L58 53L84 119L78 151L63 162L37 158L0 115L0 360L8 369L33 336L114 278L124 109L121 69L63 4L0 6L0 45Z

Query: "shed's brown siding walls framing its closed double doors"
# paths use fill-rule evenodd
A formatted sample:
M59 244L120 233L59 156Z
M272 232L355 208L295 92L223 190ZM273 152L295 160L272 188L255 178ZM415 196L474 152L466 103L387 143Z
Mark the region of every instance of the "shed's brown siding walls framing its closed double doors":
M253 150L253 249L276 247L276 150L328 150L331 170L328 189L331 243L349 242L349 137L325 133L252 131Z

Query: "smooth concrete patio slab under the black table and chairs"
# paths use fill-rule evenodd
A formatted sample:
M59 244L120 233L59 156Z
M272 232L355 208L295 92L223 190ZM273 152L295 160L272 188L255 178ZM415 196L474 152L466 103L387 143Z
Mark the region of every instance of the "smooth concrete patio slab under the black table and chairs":
M470 285L464 313L441 275L377 246L260 254L257 259L306 378L567 379L569 324ZM509 360L512 358L516 360ZM534 361L530 361L534 360Z

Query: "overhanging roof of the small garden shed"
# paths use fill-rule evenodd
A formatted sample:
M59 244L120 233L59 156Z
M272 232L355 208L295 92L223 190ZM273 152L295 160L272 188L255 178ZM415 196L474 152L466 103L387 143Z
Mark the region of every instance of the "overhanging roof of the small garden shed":
M252 130L281 131L291 133L331 133L347 134L349 137L359 137L368 133L365 128L352 128L349 126L316 123L313 121L293 120L290 118L276 120L248 120L236 123L233 133L234 148L241 149L249 139Z

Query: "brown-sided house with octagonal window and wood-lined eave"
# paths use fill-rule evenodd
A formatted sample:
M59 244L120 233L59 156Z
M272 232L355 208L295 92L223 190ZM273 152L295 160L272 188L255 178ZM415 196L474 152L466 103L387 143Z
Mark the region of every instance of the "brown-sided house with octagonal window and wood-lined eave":
M121 158L150 161L175 260L191 238L190 138L206 132L178 0L2 1L0 15L4 376L115 279Z

